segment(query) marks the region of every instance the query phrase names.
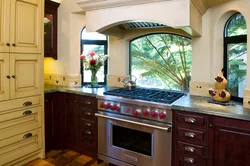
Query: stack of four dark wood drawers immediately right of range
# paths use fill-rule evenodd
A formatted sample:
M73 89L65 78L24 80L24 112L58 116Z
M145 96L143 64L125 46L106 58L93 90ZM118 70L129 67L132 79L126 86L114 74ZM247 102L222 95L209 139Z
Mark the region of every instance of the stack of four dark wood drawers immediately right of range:
M207 116L174 111L174 166L206 166Z

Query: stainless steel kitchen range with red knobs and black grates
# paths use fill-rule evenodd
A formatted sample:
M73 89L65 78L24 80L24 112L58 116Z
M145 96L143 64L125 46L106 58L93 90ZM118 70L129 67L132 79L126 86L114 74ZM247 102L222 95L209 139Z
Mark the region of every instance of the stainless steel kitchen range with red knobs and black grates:
M98 98L98 159L119 166L171 166L171 105L184 93L124 88Z

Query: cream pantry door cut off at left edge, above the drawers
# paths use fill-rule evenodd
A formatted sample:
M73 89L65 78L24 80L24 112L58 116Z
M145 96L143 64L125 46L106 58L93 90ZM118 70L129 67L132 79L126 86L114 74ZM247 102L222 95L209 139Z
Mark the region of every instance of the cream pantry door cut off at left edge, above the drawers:
M0 101L9 99L9 54L0 53Z

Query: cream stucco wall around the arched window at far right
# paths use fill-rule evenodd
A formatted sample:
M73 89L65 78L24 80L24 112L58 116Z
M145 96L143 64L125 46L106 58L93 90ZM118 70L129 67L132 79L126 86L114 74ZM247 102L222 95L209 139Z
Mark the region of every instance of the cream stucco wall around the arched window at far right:
M202 37L193 38L193 60L191 94L208 95L209 86L213 86L214 78L223 68L223 32L227 20L236 12L240 12L250 27L250 1L233 0L210 8L203 15ZM249 32L249 30L248 30ZM250 38L247 41L250 50ZM247 59L250 64L250 58ZM247 66L247 89L250 88L250 65ZM202 88L199 88L202 86Z

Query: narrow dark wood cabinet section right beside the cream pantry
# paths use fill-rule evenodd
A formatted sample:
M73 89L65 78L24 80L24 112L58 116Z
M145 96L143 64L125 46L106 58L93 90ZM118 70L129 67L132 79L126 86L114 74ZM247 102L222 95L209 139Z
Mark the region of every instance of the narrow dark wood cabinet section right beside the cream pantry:
M62 147L61 93L45 94L45 151Z

